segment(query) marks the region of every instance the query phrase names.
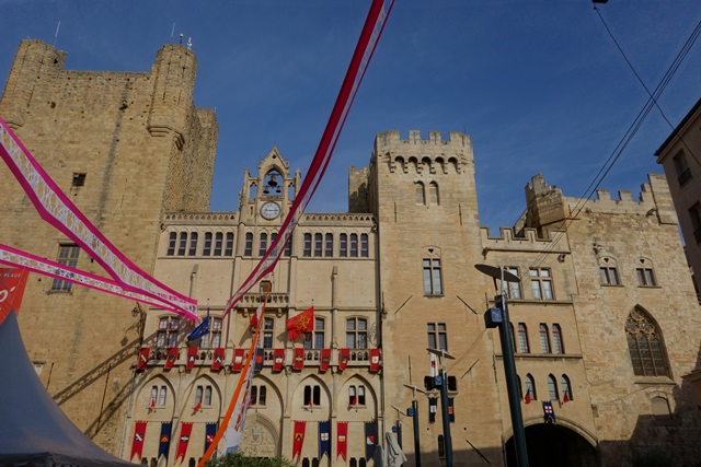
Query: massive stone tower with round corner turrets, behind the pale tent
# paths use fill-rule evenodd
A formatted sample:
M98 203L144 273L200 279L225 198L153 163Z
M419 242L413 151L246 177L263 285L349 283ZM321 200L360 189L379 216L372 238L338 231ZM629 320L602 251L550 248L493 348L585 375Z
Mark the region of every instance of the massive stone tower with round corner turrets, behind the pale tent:
M209 206L218 127L211 109L193 103L195 56L166 45L150 72L69 71L65 61L66 52L23 40L0 116L78 209L151 272L163 213ZM0 174L0 243L106 277L39 219L4 166ZM141 308L32 275L19 319L49 394L81 430L115 453L131 394Z

